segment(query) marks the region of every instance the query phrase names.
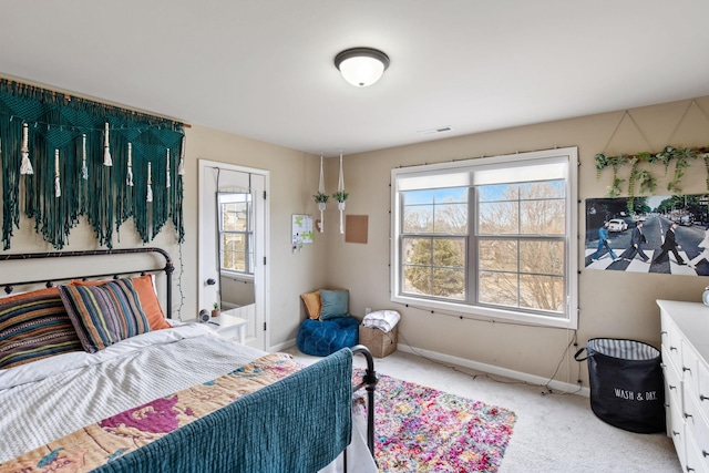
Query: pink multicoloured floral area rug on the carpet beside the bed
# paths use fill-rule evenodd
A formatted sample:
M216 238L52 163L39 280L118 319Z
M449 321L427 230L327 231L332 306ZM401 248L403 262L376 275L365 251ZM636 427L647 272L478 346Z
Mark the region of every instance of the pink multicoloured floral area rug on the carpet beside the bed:
M354 378L362 373L356 370ZM516 420L514 412L395 378L379 378L374 443L380 472L497 471Z

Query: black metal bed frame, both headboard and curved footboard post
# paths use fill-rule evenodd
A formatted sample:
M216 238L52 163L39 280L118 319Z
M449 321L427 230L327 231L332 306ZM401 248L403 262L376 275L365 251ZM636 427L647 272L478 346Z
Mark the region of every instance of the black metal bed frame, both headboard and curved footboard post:
M119 279L122 276L135 275L140 274L141 276L145 274L155 274L155 273L164 273L165 274L165 315L167 318L172 318L172 275L175 270L175 266L173 265L173 260L167 251L162 248L156 247L143 247L143 248L117 248L117 249L93 249L93 250L81 250L81 251L48 251L48 253L19 253L19 254L0 254L0 261L10 261L10 260L29 260L29 259L44 259L44 258L74 258L74 257L86 257L86 256L109 256L109 255L135 255L135 254L156 254L163 257L165 260L165 265L163 267L156 267L156 265L152 265L150 268L145 267L146 261L141 261L142 264L137 264L134 266L134 269L126 269L119 273L97 273L97 274L86 274L86 275L73 275L73 276L61 276L54 278L40 278L35 280L23 280L23 281L6 281L1 282L0 286L3 286L3 290L6 294L10 295L14 290L13 285L38 285L44 284L45 287L52 287L55 282L59 281L70 281L71 279L76 278L105 278L112 277L113 279ZM370 454L374 462L377 462L377 457L374 456L374 391L377 389L377 382L379 381L377 377L377 372L374 371L374 360L369 351L369 349L363 345L357 345L350 349L352 354L361 354L367 360L367 368L364 370L364 376L362 377L362 382L358 385L352 387L352 393L359 391L360 389L364 389L367 391L367 448L369 449ZM347 450L343 452L343 466L347 472Z

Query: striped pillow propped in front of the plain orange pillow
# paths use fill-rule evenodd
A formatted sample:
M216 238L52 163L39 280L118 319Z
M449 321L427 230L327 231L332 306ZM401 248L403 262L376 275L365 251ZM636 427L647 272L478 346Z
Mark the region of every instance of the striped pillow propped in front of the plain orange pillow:
M131 279L101 286L59 286L59 294L90 353L151 330Z

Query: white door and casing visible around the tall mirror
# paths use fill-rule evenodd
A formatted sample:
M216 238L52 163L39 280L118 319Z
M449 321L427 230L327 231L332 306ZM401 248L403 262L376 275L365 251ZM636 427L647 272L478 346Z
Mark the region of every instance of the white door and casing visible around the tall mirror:
M267 197L270 195L270 181L269 181L269 172L265 169L257 169L254 167L238 166L234 164L219 163L216 161L208 160L197 160L199 167L199 182L198 182L198 218L199 227L197 229L198 237L198 254L197 254L197 305L199 309L212 308L212 304L216 298L216 288L217 286L207 285L207 279L213 278L217 281L219 280L219 270L216 268L216 226L215 226L215 213L216 213L216 196L207 195L208 193L204 189L205 179L207 176L207 171L209 168L219 168L223 171L234 171L239 173L250 173L256 174L264 177L264 196L255 196L259 202L255 202L255 207L258 207L263 210L261 218L256 216L256 238L255 238L255 268L254 268L254 287L255 287L255 305L256 305L256 325L255 330L263 329L263 343L255 343L257 339L249 340L247 339L247 345L257 348L259 350L267 350L267 347L270 346L270 320L268 317L268 300L270 288L268 287L268 281L270 281L270 271L269 266L267 265L268 260L266 259L269 250L269 205ZM215 185L216 187L216 185ZM214 188L212 189L214 192ZM258 205L261 204L261 205ZM258 209L256 210L258 213ZM266 261L266 264L265 264ZM261 327L258 327L261 325Z

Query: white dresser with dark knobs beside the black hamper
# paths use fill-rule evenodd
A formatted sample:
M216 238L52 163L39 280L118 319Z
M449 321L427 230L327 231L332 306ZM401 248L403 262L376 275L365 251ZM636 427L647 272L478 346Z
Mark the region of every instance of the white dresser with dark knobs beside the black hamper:
M667 434L686 472L709 473L709 307L658 300Z

